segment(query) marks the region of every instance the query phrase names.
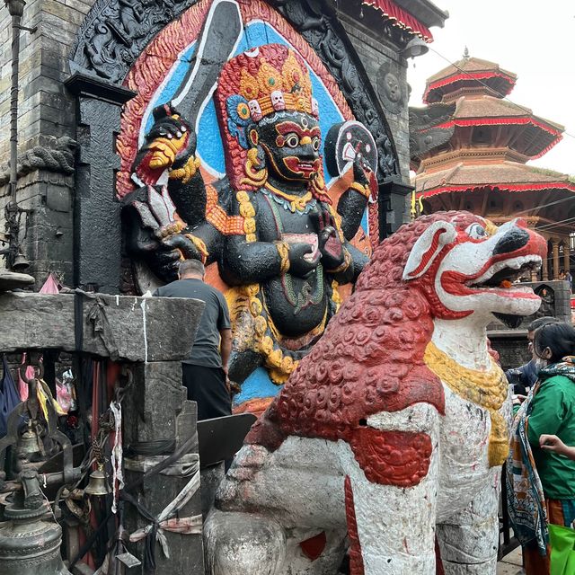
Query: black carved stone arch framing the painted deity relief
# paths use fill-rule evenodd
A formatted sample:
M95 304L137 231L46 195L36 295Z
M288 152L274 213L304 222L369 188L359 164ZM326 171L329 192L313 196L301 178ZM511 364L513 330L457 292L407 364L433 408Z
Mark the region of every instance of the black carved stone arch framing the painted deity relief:
M121 83L142 49L166 23L198 0L97 0L78 32L70 69ZM376 140L378 180L399 174L385 114L369 78L326 0L270 0L314 48L341 87L356 118Z

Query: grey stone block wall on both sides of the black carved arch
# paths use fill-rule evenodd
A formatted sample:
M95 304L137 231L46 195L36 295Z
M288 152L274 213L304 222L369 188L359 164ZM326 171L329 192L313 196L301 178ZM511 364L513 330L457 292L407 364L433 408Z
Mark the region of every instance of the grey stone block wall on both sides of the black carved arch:
M66 90L68 58L77 32L95 0L28 0L22 25L37 27L21 32L19 94L18 204L22 214L21 245L31 261L27 270L41 282L54 271L67 285L74 283L75 161L76 141L84 141L89 128L77 127L76 97ZM406 63L398 46L405 38L383 24L378 13L359 19L359 4L341 3L340 22L357 51L385 111L399 159L401 183L409 184L408 85ZM425 3L421 3L425 4ZM348 10L348 12L346 12ZM371 19L371 20L370 20ZM0 8L0 231L4 206L9 202L8 166L10 132L11 26L10 15ZM88 138L89 139L89 138ZM64 154L64 161L61 154ZM76 157L77 156L77 157ZM54 162L56 161L56 164ZM59 161L59 164L57 162ZM71 164L71 169L70 169ZM56 166L56 167L55 167ZM88 166L88 170L90 167ZM114 169L114 166L111 166ZM404 194L392 193L388 223L393 229L409 217ZM0 246L1 247L1 246ZM77 256L77 253L76 253ZM0 260L0 266L4 260ZM38 288L39 286L37 286Z

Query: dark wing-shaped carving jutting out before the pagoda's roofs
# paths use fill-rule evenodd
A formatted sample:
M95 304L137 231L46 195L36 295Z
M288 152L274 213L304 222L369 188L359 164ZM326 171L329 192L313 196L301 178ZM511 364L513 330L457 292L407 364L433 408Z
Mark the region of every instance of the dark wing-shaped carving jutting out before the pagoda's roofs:
M451 119L456 104L433 104L426 108L410 108L410 155L412 160L420 160L432 150L451 139L455 126L438 128L438 125Z

